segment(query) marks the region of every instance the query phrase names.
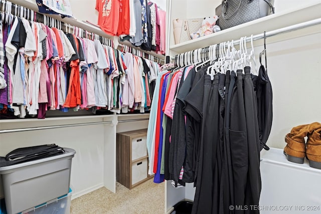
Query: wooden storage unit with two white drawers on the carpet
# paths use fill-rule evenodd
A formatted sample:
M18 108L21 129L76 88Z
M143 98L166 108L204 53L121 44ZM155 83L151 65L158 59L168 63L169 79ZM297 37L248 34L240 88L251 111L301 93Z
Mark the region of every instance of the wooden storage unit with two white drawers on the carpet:
M117 133L116 178L131 189L152 176L148 176L147 129Z

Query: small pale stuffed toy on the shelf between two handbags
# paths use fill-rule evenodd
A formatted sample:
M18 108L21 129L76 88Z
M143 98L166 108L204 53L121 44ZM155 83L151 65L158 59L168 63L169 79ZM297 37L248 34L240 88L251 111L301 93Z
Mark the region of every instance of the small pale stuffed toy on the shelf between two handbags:
M220 27L215 25L217 20L218 20L218 16L204 18L202 22L202 27L197 32L194 32L190 35L191 39L194 40L199 37L203 37L206 35L210 35L214 32L220 31L219 29Z

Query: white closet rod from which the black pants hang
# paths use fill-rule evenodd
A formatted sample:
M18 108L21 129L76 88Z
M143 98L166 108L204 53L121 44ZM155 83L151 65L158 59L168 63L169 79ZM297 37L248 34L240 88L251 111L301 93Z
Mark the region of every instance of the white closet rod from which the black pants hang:
M319 25L319 24L321 24L321 18L318 18L318 19L315 19L315 20L310 20L310 21L307 21L307 22L299 23L299 24L295 24L295 25L291 25L291 26L288 26L288 27L280 28L280 29L276 29L276 30L273 30L273 31L268 31L268 32L265 33L265 38L276 36L278 34L288 33L288 32L291 32L291 31L300 30L300 29L303 29L303 28L308 28L308 27L311 27L311 26ZM264 38L264 33L257 34L255 36L253 36L253 41L259 40L259 39L263 39L263 38ZM233 41L233 44L234 45L238 45L238 44L240 44L240 41L241 40L235 40L235 41ZM251 37L246 37L246 42L250 42L250 41L251 41ZM183 54L183 53L181 53L181 54ZM175 60L175 56L172 57L172 60Z

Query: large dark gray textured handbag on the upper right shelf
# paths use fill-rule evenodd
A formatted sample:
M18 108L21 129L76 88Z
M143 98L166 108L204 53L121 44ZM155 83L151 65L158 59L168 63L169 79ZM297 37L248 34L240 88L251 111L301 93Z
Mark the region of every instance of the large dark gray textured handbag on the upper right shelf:
M223 0L215 9L221 30L274 14L274 0Z

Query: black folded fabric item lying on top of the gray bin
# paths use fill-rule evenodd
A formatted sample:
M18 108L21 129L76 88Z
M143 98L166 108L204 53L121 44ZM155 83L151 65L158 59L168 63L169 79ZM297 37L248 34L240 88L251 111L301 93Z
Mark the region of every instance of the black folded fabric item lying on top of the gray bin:
M9 152L6 157L0 157L0 167L50 157L64 152L64 148L56 144L18 148Z

